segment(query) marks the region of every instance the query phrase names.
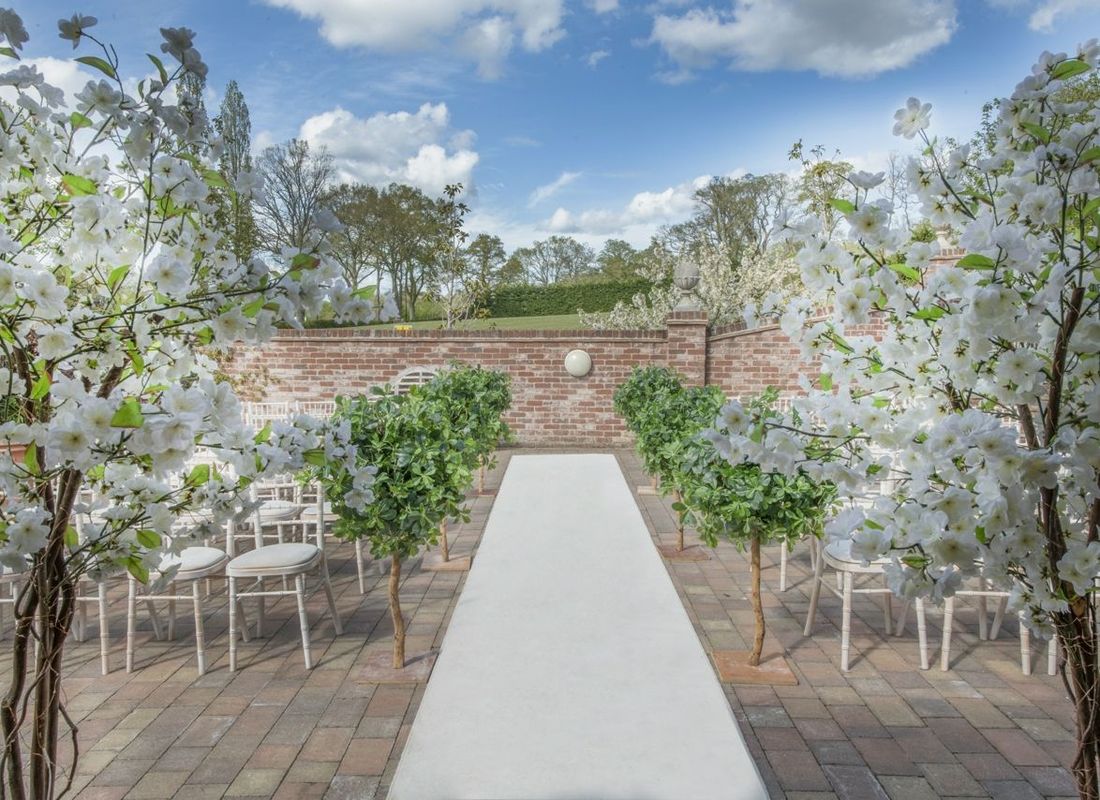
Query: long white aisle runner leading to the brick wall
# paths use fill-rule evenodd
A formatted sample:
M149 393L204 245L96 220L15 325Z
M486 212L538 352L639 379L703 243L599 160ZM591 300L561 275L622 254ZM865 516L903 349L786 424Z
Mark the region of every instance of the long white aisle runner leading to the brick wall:
M391 800L767 798L613 456L515 456Z

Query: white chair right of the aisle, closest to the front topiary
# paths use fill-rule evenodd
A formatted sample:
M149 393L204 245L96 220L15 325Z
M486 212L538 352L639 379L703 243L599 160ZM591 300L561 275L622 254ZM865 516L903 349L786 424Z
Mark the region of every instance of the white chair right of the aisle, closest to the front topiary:
M811 545L814 543L811 541ZM893 620L892 620L892 598L893 593L889 588L884 585L886 583L886 565L889 563L886 559L879 559L877 561L871 561L869 565L865 565L861 560L855 558L851 555L851 541L849 540L838 540L831 541L824 547L818 547L817 551L817 563L814 568L814 584L810 593L810 611L806 614L806 625L803 629L804 635L810 636L814 626L814 618L817 615L817 602L821 599L822 587L828 589L833 594L840 598L843 616L840 620L840 670L843 672L848 671L848 655L851 646L851 599L856 594L880 594L882 595L882 620L886 627L887 635L893 633ZM837 591L833 587L828 585L825 581L824 570L825 567L831 567L836 570L837 574L842 579L840 590ZM856 577L880 577L883 579L883 585L880 587L864 587L855 588ZM914 606L916 609L916 632L917 640L921 654L921 669L928 668L928 640L927 640L927 628L925 627L924 617L924 601L917 598L914 601ZM904 620L904 610L902 611L902 620ZM904 622L901 623L895 635L900 635L902 628L904 627Z

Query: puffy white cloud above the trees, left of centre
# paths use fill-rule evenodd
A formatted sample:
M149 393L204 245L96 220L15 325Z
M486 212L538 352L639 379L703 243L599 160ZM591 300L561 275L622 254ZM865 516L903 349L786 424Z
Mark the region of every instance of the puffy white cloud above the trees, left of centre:
M470 188L479 161L473 133L450 127L442 102L367 118L337 107L302 122L299 135L329 151L342 180L406 183L439 194L447 184Z

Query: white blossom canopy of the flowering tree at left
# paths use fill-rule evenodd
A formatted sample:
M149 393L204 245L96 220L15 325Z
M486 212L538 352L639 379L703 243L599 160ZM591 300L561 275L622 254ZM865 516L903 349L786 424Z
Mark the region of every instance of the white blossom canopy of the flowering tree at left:
M95 41L95 23L74 15L61 36ZM169 90L206 73L195 34L162 34L175 65L151 56L158 75L135 91L109 47L84 61L105 78L68 99L33 66L0 74L16 89L0 103L0 390L18 398L0 425L0 563L11 569L32 568L48 538L65 536L86 554L74 572L140 573L197 509L199 528L240 513L248 481L317 459L356 469L346 427L299 416L249 430L204 354L300 327L326 300L338 321L374 310L320 237L273 260L233 256L215 193L262 186L251 175L229 186L217 172L219 143ZM13 11L0 9L0 35L18 57L26 33ZM360 472L351 504L363 505L373 471ZM97 520L76 543L72 512Z

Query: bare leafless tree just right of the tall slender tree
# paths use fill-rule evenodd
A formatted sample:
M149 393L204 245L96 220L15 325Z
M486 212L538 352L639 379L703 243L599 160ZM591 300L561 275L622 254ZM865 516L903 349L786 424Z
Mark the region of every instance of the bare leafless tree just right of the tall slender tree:
M319 215L336 175L332 156L321 147L292 139L267 147L256 164L264 194L256 204L256 223L263 249L305 248L320 230Z

